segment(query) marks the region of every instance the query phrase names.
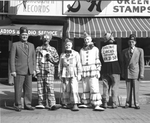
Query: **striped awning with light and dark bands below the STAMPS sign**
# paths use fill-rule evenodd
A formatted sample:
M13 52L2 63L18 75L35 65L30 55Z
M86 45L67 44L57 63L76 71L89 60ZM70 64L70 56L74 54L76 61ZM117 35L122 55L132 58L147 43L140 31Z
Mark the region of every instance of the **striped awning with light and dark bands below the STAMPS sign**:
M145 38L150 37L150 18L68 18L68 38L81 38L84 31L92 38L101 38L106 32L118 38L129 37L131 33Z

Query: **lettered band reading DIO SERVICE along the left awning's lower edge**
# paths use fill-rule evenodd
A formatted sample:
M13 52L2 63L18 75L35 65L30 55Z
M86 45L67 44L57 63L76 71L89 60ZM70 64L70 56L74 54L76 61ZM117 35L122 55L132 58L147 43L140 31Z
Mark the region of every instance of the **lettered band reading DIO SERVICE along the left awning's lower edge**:
M28 29L28 34L32 36L41 36L43 34L52 34L56 37L62 37L61 31L50 31L50 30L34 30ZM19 35L19 29L11 29L11 28L2 28L0 29L0 35Z

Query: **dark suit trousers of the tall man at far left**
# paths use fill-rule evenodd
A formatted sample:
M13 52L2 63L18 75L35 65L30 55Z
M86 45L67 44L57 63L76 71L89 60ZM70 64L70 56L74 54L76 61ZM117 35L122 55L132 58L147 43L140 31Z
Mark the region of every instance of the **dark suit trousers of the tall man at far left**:
M15 105L21 108L23 89L24 106L31 107L32 101L32 75L17 75L14 78Z

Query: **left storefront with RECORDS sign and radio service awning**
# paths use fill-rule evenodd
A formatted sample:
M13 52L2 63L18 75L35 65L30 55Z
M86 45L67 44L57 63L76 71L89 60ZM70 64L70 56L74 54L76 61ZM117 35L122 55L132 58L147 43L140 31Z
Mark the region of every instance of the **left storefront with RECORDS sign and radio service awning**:
M11 44L19 41L19 29L21 26L28 28L28 41L33 43L35 48L42 45L41 35L51 33L53 38L50 45L56 48L59 55L63 50L62 40L66 19L53 16L59 15L60 12L53 7L56 7L56 5L60 6L60 4L52 1L28 1L25 7L24 4L21 3L22 1L10 1L9 14L1 15L2 18L6 18L0 20L0 43L2 44L0 45L0 68L2 69L2 71L0 71L0 78L8 78L9 83L13 81L9 73L9 52ZM32 9L34 7L32 11L31 8L29 8L31 6ZM36 10L38 9L37 7L43 7L43 9L46 7L47 11L42 11L41 9L39 12ZM54 10L50 11L50 8ZM55 78L58 77L55 76Z

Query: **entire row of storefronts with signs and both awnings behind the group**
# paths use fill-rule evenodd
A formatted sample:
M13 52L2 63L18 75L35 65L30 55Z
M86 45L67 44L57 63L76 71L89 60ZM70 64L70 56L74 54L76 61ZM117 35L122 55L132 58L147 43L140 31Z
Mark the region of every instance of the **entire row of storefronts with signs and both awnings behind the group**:
M145 53L145 80L150 80L150 1L149 0L87 0L87 1L10 1L11 25L0 26L0 38L9 42L18 40L18 29L25 25L29 29L29 42L41 45L40 35L53 33L52 44L63 51L63 40L74 41L74 49L83 46L83 32L93 38L101 49L103 35L112 32L120 50L128 47L131 33L137 36L137 46ZM6 38L7 37L7 38ZM7 47L10 43L5 44ZM9 47L8 47L9 49Z

